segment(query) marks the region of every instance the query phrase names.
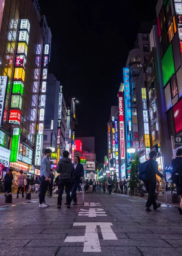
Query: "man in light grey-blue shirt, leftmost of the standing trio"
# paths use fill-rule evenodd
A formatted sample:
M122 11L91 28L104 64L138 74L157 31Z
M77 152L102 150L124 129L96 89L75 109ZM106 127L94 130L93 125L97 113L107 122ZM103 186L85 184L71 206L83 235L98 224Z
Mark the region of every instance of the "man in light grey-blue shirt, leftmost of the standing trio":
M40 192L39 192L39 207L46 208L48 205L45 202L46 191L50 182L49 175L51 169L51 162L49 157L51 156L51 148L46 148L45 156L41 159L40 166Z

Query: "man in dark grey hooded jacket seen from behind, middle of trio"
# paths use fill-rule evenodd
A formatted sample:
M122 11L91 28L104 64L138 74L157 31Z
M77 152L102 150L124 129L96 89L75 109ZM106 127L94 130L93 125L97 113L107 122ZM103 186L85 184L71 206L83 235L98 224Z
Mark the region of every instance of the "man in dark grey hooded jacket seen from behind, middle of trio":
M57 198L57 208L61 208L61 202L62 202L62 195L64 191L64 186L66 188L66 203L67 208L71 208L71 198L70 198L70 192L71 192L71 171L72 171L72 163L71 159L68 158L69 152L63 151L63 158L60 159L60 161L57 164L57 173L60 173L59 175L59 185L58 185L58 198Z

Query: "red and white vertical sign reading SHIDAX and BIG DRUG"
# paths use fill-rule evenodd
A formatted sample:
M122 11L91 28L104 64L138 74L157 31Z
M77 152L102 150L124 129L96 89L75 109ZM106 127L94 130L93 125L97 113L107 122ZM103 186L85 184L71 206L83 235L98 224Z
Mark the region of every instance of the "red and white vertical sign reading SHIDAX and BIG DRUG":
M124 108L123 108L123 95L122 92L118 92L119 99L119 141L121 159L125 159L125 137L124 137Z

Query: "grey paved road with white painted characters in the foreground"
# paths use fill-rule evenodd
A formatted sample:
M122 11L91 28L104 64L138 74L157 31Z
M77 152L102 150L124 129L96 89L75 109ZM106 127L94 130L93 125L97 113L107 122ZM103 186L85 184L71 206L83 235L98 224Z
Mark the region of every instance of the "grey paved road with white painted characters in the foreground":
M63 196L65 201L65 195ZM182 255L182 215L174 207L145 212L145 200L89 193L88 206L56 208L57 196L0 208L0 255Z

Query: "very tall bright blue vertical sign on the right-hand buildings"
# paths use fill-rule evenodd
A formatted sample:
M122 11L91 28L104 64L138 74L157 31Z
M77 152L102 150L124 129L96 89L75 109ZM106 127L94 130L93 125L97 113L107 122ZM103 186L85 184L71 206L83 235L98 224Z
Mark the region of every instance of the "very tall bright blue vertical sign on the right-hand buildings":
M125 123L126 123L126 145L127 148L131 148L132 142L132 133L131 133L131 102L130 102L130 83L129 83L129 69L123 69L123 76L124 76L124 91L125 91ZM127 160L128 164L130 164L131 154L127 152Z

